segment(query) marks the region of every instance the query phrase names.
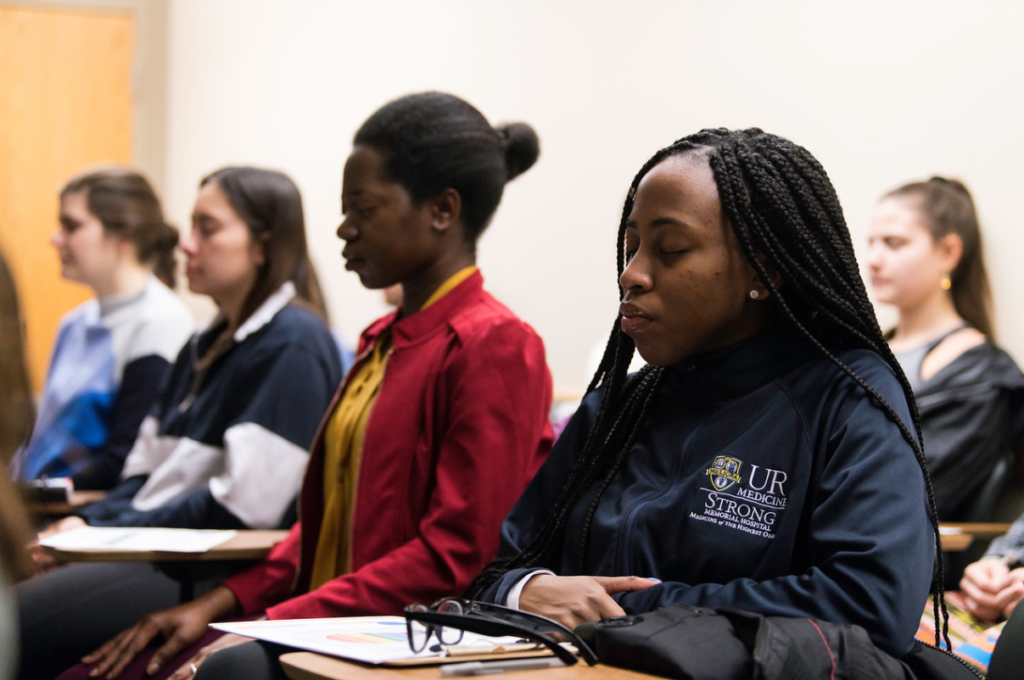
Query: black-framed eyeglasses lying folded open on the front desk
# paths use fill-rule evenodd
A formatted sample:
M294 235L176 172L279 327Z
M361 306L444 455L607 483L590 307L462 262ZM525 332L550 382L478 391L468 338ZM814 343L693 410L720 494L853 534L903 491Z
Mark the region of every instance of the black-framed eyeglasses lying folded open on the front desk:
M462 605L462 613L449 613L436 610L444 602L452 601L459 602ZM433 633L440 640L440 636L434 631L434 628L455 628L492 637L508 635L525 638L531 642L543 644L566 666L572 666L579 660L575 654L559 644L558 640L550 636L551 633L556 633L564 636L566 640L571 642L580 652L580 656L589 666L594 666L598 663L597 654L594 653L594 650L586 642L580 639L579 635L557 621L552 621L546 617L518 609L510 609L500 604L477 602L475 600L460 600L458 598L439 600L426 610L414 608L418 606L422 605L411 604L406 607L406 621L416 621L428 625L428 639L430 634ZM414 647L412 636L410 636L409 646L413 651L417 651Z

